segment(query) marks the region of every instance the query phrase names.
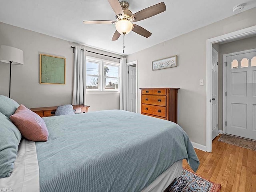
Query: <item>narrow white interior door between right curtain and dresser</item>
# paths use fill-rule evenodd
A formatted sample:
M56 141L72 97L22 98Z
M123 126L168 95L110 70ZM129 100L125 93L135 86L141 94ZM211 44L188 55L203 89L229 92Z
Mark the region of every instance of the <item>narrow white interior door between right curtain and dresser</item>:
M136 67L128 66L128 111L136 113Z

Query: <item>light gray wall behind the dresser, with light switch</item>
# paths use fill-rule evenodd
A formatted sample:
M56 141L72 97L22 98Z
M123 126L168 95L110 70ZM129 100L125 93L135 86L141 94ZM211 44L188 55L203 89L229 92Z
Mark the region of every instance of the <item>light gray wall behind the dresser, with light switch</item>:
M178 124L192 142L206 146L206 40L254 26L255 18L253 8L127 56L127 62L138 60L138 88L180 88ZM152 71L152 61L174 55L177 67ZM200 79L204 86L199 86ZM140 97L137 104L140 112Z

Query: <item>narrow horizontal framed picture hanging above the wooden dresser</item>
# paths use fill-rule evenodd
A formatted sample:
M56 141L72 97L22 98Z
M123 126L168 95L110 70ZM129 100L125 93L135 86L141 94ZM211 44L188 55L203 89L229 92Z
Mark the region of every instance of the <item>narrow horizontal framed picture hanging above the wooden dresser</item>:
M177 55L152 62L152 70L165 69L177 66Z

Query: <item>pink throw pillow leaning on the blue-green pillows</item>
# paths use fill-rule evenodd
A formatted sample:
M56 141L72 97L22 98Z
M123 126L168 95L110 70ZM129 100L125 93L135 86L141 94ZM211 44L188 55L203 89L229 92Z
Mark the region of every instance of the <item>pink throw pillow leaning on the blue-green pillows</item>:
M10 120L20 130L22 136L31 141L47 141L48 130L44 120L24 105L20 105Z

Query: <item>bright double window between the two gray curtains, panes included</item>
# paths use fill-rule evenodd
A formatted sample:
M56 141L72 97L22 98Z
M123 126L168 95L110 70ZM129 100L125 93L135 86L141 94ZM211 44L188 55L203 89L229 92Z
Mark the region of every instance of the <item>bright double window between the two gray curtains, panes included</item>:
M88 91L119 91L120 64L87 57L86 88Z

